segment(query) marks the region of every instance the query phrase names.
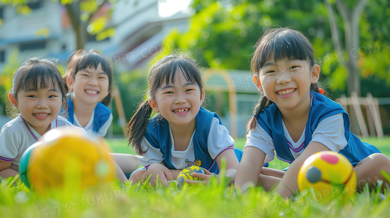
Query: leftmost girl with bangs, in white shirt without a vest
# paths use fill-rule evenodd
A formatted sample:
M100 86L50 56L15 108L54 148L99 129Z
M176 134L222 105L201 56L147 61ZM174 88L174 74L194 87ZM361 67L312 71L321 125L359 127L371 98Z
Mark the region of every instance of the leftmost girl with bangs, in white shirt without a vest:
M63 118L67 116L63 81L56 66L47 59L28 58L20 65L14 73L8 99L7 115L13 120L0 132L2 178L18 174L21 155L45 132L60 126L84 132Z

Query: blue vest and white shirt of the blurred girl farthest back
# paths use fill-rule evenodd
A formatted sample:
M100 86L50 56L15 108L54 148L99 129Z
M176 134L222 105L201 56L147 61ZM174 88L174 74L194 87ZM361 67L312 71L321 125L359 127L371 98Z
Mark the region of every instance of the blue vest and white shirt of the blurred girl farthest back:
M111 110L104 104L98 102L92 112L92 116L88 123L82 127L73 110L73 103L70 99L70 94L67 94L67 120L76 127L83 128L88 136L104 137L107 134L108 127L112 122Z

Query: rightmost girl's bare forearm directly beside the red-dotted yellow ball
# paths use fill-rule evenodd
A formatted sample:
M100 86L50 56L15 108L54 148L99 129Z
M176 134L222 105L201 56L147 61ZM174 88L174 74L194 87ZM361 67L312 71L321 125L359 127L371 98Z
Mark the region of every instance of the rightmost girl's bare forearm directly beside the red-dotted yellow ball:
M291 166L274 191L279 193L283 198L290 198L292 195L291 192L295 194L295 191L298 189L297 179L300 167L309 156L319 151L329 151L329 149L321 143L310 142L302 154L291 163Z

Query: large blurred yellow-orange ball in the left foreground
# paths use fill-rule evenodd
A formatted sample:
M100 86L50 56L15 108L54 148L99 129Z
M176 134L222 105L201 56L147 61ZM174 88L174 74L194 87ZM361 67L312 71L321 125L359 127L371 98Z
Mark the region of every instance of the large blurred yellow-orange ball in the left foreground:
M83 191L114 179L114 165L103 142L71 129L45 133L28 160L28 182L39 193Z

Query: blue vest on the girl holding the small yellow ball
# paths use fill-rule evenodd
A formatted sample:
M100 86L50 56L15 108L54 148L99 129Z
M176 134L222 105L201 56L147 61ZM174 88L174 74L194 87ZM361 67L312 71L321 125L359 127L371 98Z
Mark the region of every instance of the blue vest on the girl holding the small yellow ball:
M210 132L211 120L213 117L217 118L219 124L222 125L222 122L216 113L212 113L200 107L195 118L196 127L192 141L195 159L199 158L201 161L199 167L207 169L211 173L218 174L218 166L215 160L210 157L207 149L208 133ZM181 170L173 167L170 162L170 150L172 146L169 137L168 122L165 119L161 119L160 115L151 119L147 124L144 137L151 146L160 149L161 153L164 155L164 165L166 168L169 170Z

